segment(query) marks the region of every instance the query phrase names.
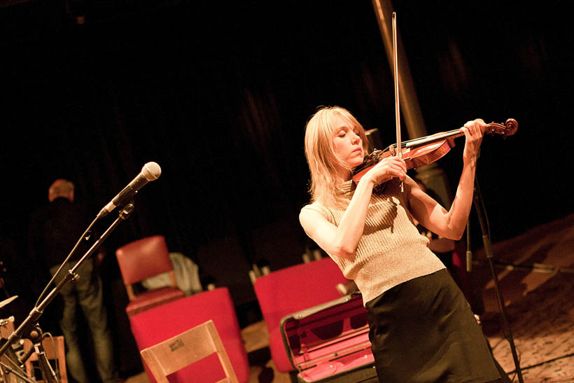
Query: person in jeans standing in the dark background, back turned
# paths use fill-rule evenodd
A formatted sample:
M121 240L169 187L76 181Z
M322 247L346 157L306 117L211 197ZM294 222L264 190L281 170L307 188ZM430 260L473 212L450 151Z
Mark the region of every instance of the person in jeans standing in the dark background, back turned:
M31 216L29 228L29 253L36 265L45 264L53 276L69 255L73 246L83 234L90 221L80 204L74 202L73 183L57 179L48 189L50 204L38 209ZM55 283L90 248L92 238L83 239L82 244L70 260L63 265ZM94 266L94 259L87 258L77 270L79 279L64 285L59 293L64 300L59 326L66 344L66 365L69 375L76 382L93 382L82 360L77 315L81 312L89 327L94 346L94 358L102 382L118 382L118 372L113 355L113 339L108 325L106 308L102 298L102 280Z

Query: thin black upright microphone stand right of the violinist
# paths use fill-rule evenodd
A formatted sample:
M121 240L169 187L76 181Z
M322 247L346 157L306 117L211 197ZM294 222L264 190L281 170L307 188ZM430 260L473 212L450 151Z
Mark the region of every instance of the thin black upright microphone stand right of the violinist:
M498 288L498 275L494 270L493 265L493 253L491 249L491 241L489 237L489 230L486 227L486 209L484 208L484 204L482 203L482 195L480 195L480 188L478 186L478 179L475 177L475 193L473 197L473 202L475 204L475 210L477 212L478 221L480 224L480 229L482 230L482 243L484 244L484 252L486 253L486 259L488 260L490 271L492 274L492 278L494 281L494 291L496 293L496 300L498 302L498 310L500 311L500 317L503 321L503 331L506 339L510 343L510 350L512 351L512 358L514 359L514 365L516 367L516 372L518 375L518 380L520 383L523 383L524 380L522 379L522 372L520 370L520 361L518 359L516 347L514 346L514 340L512 338L512 331L510 330L510 325L508 324L506 312L505 312L505 304L502 294L500 293L500 289ZM468 253L467 253L467 260L468 260ZM468 265L467 265L468 270Z

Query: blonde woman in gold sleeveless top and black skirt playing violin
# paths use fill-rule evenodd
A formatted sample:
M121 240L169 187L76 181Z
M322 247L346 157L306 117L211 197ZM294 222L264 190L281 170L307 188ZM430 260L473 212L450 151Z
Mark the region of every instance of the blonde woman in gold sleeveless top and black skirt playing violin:
M300 223L362 293L381 382L500 379L470 305L413 222L461 238L485 126L477 119L461 127L463 170L447 210L407 176L398 157L382 159L354 183L351 171L367 154L367 138L346 109L323 107L307 123L311 203Z

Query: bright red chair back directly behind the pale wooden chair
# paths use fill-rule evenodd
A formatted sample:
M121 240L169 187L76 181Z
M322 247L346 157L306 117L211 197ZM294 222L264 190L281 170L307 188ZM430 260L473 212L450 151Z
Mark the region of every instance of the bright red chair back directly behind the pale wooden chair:
M247 382L247 353L241 339L235 307L226 287L204 291L136 314L130 318L130 326L141 351L209 320L215 324L237 379L239 382ZM150 381L155 382L148 365L144 363L144 367ZM216 354L169 375L173 382L216 382L224 377L225 372Z

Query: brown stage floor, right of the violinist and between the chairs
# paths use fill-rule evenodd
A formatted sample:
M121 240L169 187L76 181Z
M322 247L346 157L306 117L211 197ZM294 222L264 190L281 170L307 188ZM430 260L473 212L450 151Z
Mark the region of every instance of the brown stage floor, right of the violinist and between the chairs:
M493 244L492 249L521 379L574 382L574 215ZM465 277L484 305L480 315L484 333L500 366L519 382L513 347L503 336L505 326L489 263L484 251L477 251L473 258L472 272ZM263 323L253 323L243 335L252 353L267 342ZM142 372L126 382L149 380ZM290 383L291 379L277 372L272 361L262 361L251 366L249 382Z

